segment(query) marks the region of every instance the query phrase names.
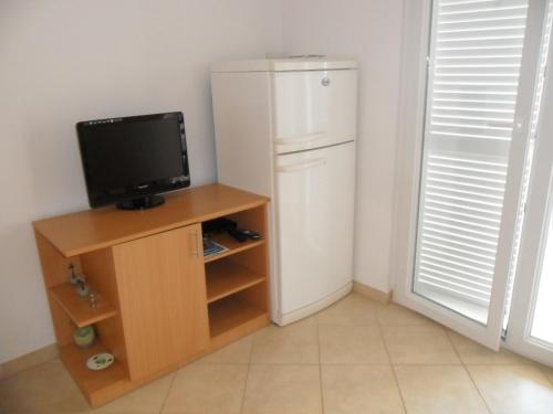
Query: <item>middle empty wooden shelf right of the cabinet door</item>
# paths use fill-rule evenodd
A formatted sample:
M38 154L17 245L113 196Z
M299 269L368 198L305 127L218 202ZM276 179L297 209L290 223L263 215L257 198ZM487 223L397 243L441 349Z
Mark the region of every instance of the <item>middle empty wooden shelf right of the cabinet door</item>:
M265 280L249 268L231 261L218 261L206 266L208 304Z

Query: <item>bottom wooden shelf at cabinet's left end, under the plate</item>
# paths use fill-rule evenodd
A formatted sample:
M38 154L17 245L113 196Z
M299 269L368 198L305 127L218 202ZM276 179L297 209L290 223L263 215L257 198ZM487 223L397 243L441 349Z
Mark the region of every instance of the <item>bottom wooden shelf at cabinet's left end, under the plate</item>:
M60 349L61 359L85 394L111 386L119 381L129 381L125 368L117 360L104 370L88 370L86 361L88 358L100 352L109 351L101 343L96 343L87 349L81 349L75 344L69 344Z

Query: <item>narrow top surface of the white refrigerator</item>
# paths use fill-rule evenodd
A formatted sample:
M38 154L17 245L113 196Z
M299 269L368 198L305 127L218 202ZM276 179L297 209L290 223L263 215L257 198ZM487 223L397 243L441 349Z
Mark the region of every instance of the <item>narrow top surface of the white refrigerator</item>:
M286 72L286 71L333 71L355 70L357 62L351 59L330 59L326 56L298 56L280 59L257 59L244 61L217 62L211 72Z

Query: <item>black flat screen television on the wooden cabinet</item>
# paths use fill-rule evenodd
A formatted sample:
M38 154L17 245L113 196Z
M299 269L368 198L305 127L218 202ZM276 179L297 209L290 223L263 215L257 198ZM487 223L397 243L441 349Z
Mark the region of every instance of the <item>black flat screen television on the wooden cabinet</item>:
M182 113L76 124L92 208L149 209L159 193L190 185Z

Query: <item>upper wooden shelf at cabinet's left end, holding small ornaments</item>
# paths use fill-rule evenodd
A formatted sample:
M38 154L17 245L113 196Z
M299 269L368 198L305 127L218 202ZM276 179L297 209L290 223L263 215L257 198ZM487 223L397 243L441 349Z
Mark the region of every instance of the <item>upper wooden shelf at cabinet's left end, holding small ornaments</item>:
M60 304L73 322L82 328L117 315L117 310L101 297L96 308L91 308L87 298L77 295L69 283L50 289L52 297Z

